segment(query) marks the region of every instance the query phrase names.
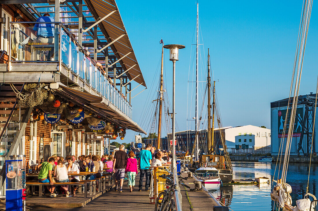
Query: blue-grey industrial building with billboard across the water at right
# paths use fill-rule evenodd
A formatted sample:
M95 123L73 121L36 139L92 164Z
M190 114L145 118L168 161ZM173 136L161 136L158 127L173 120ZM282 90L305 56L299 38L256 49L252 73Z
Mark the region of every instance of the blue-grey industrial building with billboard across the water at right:
M292 156L310 156L311 149L313 153L317 152L316 133L313 137L315 96L316 94L313 93L298 96L292 145L290 149L290 155ZM292 103L293 99L290 99L289 106L291 106ZM282 138L287 137L290 122L290 109L288 110L286 131L283 134L287 105L288 98L271 103L272 155L278 155ZM286 141L284 142L286 143ZM285 152L285 145L283 146L283 152Z

